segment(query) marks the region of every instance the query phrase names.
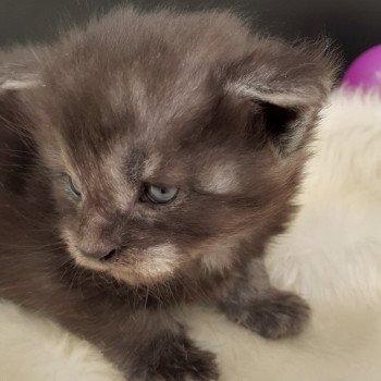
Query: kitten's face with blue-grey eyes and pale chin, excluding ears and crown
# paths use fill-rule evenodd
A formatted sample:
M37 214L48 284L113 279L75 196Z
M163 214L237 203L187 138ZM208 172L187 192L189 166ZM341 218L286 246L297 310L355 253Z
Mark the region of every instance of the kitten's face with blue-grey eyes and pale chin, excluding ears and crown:
M155 99L147 115L126 83L125 109L115 116L114 99L96 87L78 101L83 88L62 98L52 91L60 115L49 114L42 144L71 255L131 284L229 269L242 237L266 226L271 202L284 202L276 188L265 189L280 186L271 180L276 160L234 138L233 121L217 111L219 93L205 101L212 89L194 95L196 110L186 99L174 115Z

